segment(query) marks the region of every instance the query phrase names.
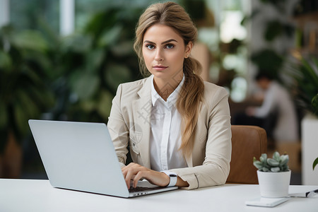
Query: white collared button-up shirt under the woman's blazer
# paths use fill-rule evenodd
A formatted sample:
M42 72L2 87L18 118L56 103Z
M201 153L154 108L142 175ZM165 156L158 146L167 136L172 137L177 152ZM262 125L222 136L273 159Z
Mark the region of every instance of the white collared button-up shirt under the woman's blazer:
M153 76L152 76L153 81ZM181 145L182 118L177 111L176 102L179 90L184 83L184 76L177 88L170 94L167 101L158 95L155 87L151 86L151 169L156 171L187 167Z

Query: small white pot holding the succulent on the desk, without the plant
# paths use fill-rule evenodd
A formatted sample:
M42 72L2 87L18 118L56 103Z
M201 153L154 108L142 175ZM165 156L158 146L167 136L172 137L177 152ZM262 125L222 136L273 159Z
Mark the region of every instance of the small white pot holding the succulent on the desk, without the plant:
M287 172L261 172L257 170L261 196L268 198L288 196L290 173L290 170Z

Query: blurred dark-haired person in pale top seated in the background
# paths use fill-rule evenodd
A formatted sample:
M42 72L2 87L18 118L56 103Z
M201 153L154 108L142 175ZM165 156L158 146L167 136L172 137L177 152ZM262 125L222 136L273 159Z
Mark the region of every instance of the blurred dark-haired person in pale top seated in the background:
M232 124L261 126L274 141L298 141L298 119L288 90L265 71L260 71L255 79L264 90L261 106L247 107L245 113L235 115Z

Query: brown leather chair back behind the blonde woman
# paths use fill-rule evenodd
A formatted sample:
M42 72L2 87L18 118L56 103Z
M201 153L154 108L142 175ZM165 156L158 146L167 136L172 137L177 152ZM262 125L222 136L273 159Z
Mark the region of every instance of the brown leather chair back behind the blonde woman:
M258 184L253 157L267 151L266 131L259 126L232 125L232 158L228 183Z

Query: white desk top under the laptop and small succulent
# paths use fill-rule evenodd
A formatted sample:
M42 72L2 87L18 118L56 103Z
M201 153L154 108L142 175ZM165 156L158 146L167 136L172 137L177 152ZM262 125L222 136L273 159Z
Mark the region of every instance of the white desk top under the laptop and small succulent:
M290 186L290 193L317 186ZM123 199L51 187L47 180L0 179L0 211L318 211L318 195L291 198L275 208L245 206L259 196L259 185L225 184L184 191L181 189Z

